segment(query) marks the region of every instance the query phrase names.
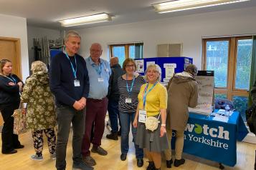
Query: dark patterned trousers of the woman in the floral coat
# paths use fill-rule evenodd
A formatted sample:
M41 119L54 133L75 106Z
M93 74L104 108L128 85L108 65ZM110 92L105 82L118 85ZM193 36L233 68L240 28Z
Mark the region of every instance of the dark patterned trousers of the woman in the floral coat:
M49 154L54 154L55 152L56 136L53 128L32 131L32 137L34 141L34 151L36 151L37 156L42 156L42 150L44 146L43 132L45 136L47 136Z

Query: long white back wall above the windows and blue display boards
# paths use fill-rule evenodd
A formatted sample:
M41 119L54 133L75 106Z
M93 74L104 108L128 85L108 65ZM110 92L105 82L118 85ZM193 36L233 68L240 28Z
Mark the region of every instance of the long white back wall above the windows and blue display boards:
M90 44L99 42L103 58L108 59L108 44L143 41L143 56L148 58L156 56L157 44L182 43L183 56L192 57L200 68L202 36L256 33L255 16L256 7L78 29L82 36L80 54L89 56Z

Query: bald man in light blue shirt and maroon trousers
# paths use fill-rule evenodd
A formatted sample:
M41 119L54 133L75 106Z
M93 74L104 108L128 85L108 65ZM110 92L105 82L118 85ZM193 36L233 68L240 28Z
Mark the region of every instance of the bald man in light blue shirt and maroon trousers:
M90 138L93 122L95 123L92 152L107 155L101 145L101 139L105 129L105 114L108 108L108 80L111 70L108 61L100 59L103 50L100 44L94 43L90 47L90 57L85 59L90 78L90 92L87 98L87 109L85 117L85 135L82 141L82 157L85 164L94 166L96 164L90 156Z

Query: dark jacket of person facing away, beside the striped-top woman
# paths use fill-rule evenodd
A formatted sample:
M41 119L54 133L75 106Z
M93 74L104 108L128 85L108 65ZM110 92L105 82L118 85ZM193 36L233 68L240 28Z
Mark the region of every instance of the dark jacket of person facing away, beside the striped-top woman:
M108 99L119 101L120 92L118 89L118 78L125 74L123 69L119 64L115 64L111 66L111 76L109 79L109 86L108 86Z

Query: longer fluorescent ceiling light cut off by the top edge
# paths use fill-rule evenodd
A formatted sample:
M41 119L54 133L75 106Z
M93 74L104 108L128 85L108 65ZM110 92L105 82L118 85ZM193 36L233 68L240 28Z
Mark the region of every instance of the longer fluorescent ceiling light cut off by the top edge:
M199 9L209 6L217 6L224 4L233 4L242 1L250 0L174 0L159 4L153 4L156 12L162 14L174 11L184 11L189 9Z

